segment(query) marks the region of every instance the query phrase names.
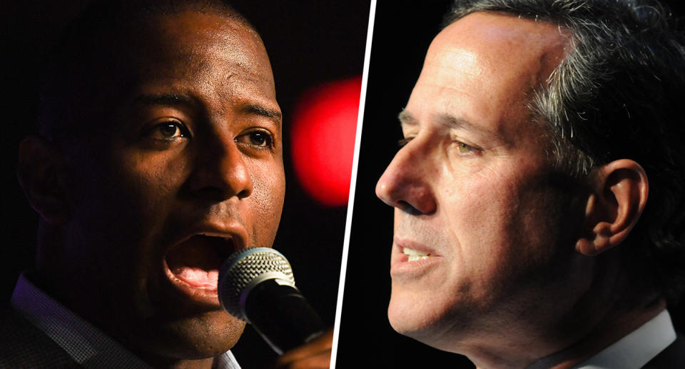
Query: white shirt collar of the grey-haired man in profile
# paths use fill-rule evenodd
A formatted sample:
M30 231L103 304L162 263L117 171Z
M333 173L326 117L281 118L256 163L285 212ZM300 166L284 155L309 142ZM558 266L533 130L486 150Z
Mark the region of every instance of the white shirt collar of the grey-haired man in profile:
M638 369L676 340L667 310L573 369Z

